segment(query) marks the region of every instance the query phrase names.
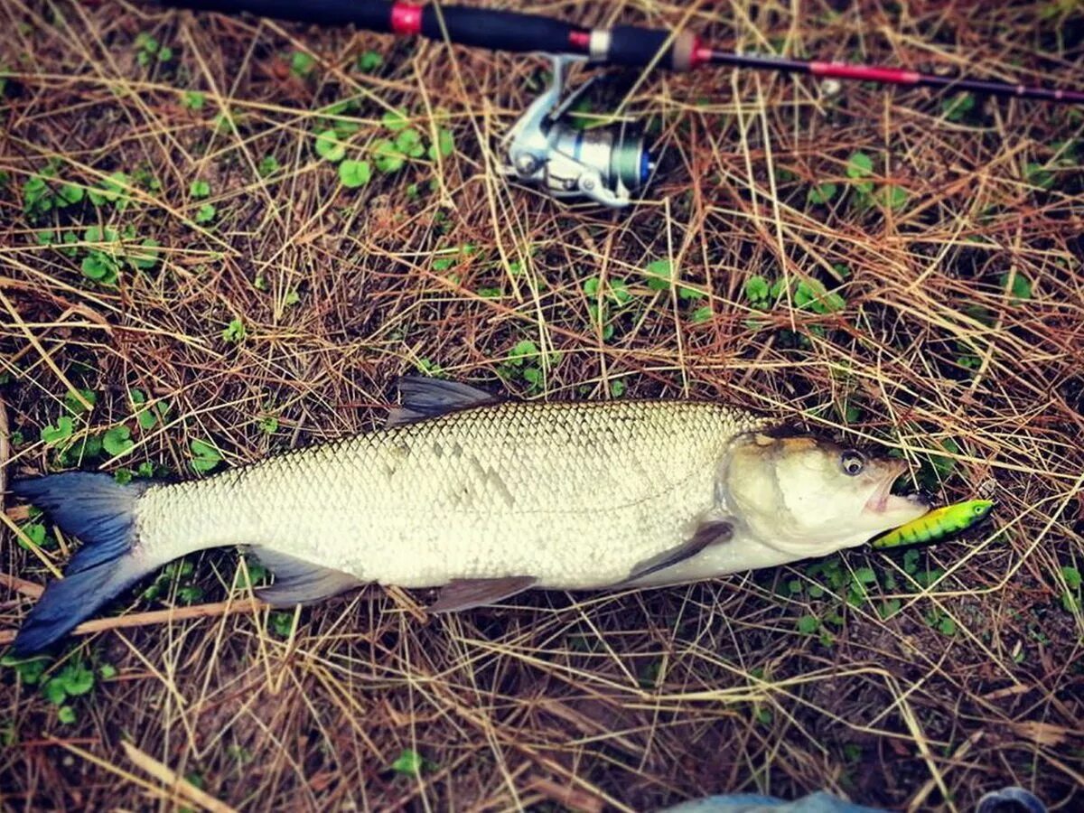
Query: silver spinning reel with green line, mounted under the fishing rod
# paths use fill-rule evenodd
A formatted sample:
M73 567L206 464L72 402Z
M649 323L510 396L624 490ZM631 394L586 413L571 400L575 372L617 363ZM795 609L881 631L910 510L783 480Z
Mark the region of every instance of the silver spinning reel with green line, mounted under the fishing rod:
M604 206L628 206L655 172L642 129L621 122L578 130L568 109L591 87L591 79L564 103L565 72L573 57L552 56L553 83L535 99L508 132L502 171L545 190L554 197L588 197Z

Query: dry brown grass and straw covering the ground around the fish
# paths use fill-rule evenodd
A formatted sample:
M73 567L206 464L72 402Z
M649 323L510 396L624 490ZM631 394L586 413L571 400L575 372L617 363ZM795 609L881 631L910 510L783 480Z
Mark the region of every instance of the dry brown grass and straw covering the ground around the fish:
M598 7L534 8L602 18ZM687 18L724 43L820 57L1084 77L1084 17L1071 2L869 2L839 14L810 3L800 17L786 4L709 8L622 3L605 16ZM0 670L0 808L212 798L250 810L649 810L827 787L967 810L1019 784L1079 809L1084 618L1063 599L1063 568L1084 557L1079 111L976 100L952 120L924 91L653 76L625 109L653 120L673 168L651 199L615 216L554 205L493 171L493 138L528 103L537 60L116 2L3 0L0 26L0 63L14 72L0 108L13 474L54 463L40 430L72 386L98 396L77 438L133 429L124 459L85 466L185 473L195 438L237 463L372 426L392 378L430 363L531 397L606 398L620 382L628 395L725 398L886 443L916 475L929 477L940 453L942 499L986 483L999 501L977 538L917 560L853 551L827 572L535 593L441 619L420 611L424 595L370 589L300 611L285 636L275 627L288 617L248 608L82 637L63 657L116 675L70 701L73 723ZM140 31L172 59L141 65ZM354 59L370 49L384 66L360 72ZM317 60L304 78L294 51ZM193 89L202 109L183 103ZM450 128L455 153L341 188L313 136L317 111L347 96L359 100L341 119L357 126L351 154L386 137L390 107L426 140ZM219 127L225 109L233 124ZM855 152L873 159L875 189L905 192L902 206L857 205ZM261 177L269 155L281 169ZM88 188L128 172L130 204L85 196L28 218L24 184L49 162ZM209 223L195 220L196 178L210 184ZM825 182L833 199L810 203ZM88 280L85 229L99 220L159 241L160 262L126 268L115 288ZM76 235L75 256L40 244L41 229ZM477 250L439 261L465 244ZM659 258L701 296L651 289L644 269ZM754 311L744 293L754 275L820 280L846 307L799 307L795 288ZM633 295L607 309L608 338L590 310L598 295L583 291L592 278L604 294L624 280ZM1016 280L1028 298L1014 299ZM705 307L710 319L694 320ZM238 343L222 337L231 320L245 326ZM521 375L496 377L525 339L547 353L541 392ZM166 399L167 421L138 429L128 387ZM844 426L848 406L860 412ZM9 511L22 524L25 512ZM34 555L4 534L2 572L43 583L65 558L66 540ZM197 604L227 601L237 562L199 557L158 598L129 595L122 609L181 606L190 583L204 591ZM848 604L870 572L868 595ZM11 584L7 629L30 605ZM882 618L893 599L899 611ZM802 617L817 633L801 631ZM391 770L406 749L429 762L421 778Z

